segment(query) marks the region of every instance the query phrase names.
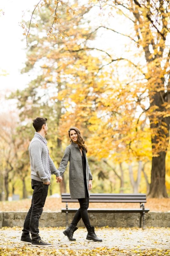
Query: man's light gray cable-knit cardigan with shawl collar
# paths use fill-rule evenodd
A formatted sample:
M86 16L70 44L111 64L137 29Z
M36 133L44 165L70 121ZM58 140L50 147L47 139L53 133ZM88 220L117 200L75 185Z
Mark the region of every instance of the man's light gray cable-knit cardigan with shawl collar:
M48 153L47 140L40 133L35 132L29 145L31 179L46 183L50 181L51 174L60 176Z

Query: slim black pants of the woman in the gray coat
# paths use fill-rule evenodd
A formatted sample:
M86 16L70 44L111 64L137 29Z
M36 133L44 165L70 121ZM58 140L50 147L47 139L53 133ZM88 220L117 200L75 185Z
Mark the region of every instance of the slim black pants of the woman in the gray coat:
M85 198L78 198L78 202L80 204L80 208L78 211L75 213L74 218L71 222L74 226L77 226L79 220L82 218L85 226L90 226L90 220L88 216L87 209L89 207L89 196L88 191L87 191L87 185L85 184Z

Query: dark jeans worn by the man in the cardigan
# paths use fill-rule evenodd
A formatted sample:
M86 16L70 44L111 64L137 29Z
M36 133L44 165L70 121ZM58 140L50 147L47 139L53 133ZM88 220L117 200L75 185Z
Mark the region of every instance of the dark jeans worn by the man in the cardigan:
M48 186L49 185L45 185L41 181L31 180L33 197L31 207L24 221L22 237L27 237L29 233L31 233L32 242L37 242L41 239L39 236L39 219L48 194Z

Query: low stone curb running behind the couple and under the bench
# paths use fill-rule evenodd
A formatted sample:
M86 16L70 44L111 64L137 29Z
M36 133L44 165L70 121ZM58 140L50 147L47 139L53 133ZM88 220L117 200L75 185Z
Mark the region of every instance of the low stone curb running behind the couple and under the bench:
M22 227L27 212L0 212L0 228ZM69 223L74 213L69 213ZM95 227L139 227L139 213L89 213ZM66 215L63 212L43 212L40 227L64 227ZM78 227L84 227L80 220ZM145 214L145 227L170 227L170 212L148 212Z

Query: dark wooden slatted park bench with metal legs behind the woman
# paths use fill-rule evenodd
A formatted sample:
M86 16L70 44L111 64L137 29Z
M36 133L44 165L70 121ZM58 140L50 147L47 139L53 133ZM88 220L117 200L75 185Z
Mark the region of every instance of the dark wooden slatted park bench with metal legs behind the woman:
M71 199L69 193L62 193L61 195L62 202L66 203L66 207L62 208L62 212L66 213L66 227L68 227L68 213L76 212L78 209L69 208L68 203L70 202L78 202L77 199ZM140 213L140 223L139 227L144 228L144 214L145 212L149 212L149 209L144 209L144 203L146 203L146 195L145 194L90 194L89 198L90 203L139 203L140 208L123 208L123 209L114 209L114 208L89 208L89 213L99 212L99 213Z

